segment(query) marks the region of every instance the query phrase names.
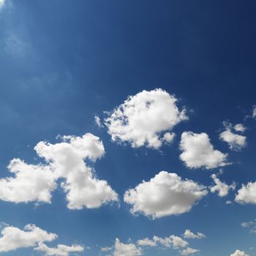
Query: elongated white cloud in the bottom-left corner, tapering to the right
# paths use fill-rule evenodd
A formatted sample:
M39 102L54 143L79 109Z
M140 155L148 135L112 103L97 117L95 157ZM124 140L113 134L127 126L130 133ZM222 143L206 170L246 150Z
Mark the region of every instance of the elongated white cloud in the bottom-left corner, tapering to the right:
M18 227L4 227L1 230L0 252L10 252L19 248L36 246L42 241L53 241L56 234L47 233L35 225L26 225L23 230Z

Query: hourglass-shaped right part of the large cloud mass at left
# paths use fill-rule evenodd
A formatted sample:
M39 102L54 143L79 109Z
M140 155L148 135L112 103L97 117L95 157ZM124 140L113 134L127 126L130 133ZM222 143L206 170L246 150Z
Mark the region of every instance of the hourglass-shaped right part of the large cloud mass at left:
M65 178L61 187L67 192L68 208L98 208L104 203L118 200L118 195L107 181L94 177L91 167L84 160L105 154L102 141L87 133L83 137L64 136L63 142L50 144L39 142L35 150L49 162L58 178Z

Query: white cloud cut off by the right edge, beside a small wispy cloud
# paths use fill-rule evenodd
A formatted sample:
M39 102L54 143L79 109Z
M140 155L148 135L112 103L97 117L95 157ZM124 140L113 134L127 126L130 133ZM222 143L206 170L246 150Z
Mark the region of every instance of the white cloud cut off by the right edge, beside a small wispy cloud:
M256 181L242 185L236 195L237 203L253 203L256 204Z

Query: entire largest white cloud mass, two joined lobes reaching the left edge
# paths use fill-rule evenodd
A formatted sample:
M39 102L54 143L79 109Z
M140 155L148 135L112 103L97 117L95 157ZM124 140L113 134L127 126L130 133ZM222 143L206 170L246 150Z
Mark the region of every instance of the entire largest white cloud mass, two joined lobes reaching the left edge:
M9 170L15 177L0 179L0 199L10 202L38 201L50 203L56 181L63 178L61 187L67 193L68 208L97 208L118 200L107 181L95 177L86 160L96 161L105 154L102 141L87 133L83 137L64 136L61 143L37 143L35 151L47 165L27 165L12 159Z

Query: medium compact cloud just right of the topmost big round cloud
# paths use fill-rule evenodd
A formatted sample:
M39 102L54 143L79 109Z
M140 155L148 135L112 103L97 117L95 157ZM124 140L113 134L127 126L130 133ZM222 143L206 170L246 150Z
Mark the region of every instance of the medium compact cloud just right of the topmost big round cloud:
M183 132L180 143L180 159L189 168L206 167L206 169L228 165L227 154L215 150L208 135L204 132Z

